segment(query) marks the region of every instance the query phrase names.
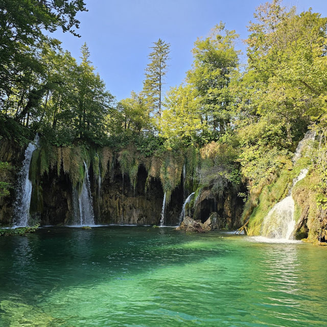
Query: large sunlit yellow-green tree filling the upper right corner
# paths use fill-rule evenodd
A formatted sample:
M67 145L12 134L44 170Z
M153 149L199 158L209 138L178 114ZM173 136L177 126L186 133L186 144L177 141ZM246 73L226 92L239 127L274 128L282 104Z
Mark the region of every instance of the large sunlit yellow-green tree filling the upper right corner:
M248 67L243 77L251 79L251 87L242 84L251 92L246 97L256 114L283 123L291 145L310 119L326 111L327 19L311 10L299 15L295 8L287 11L280 0L261 5L254 17L248 27Z

